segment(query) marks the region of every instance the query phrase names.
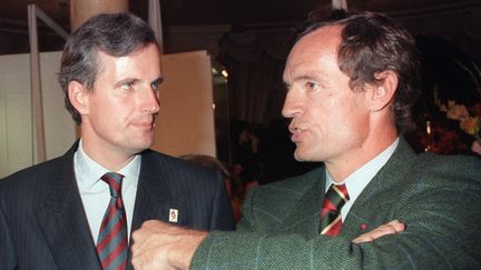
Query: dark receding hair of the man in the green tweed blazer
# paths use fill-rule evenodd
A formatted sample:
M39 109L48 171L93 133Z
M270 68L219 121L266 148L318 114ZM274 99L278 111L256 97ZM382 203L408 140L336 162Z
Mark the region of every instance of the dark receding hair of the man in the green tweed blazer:
M420 93L420 53L414 38L379 12L335 10L326 19L311 16L296 41L322 27L342 26L337 62L350 77L352 90L376 83L376 73L391 70L399 77L393 116L400 132L412 130L411 109Z

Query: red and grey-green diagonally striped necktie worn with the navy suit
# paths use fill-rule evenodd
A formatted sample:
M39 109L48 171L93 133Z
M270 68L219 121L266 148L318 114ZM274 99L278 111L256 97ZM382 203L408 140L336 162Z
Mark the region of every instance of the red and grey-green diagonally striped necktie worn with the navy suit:
M124 176L116 172L101 177L109 184L111 196L97 239L102 269L120 270L127 266L127 218L120 193L122 179Z

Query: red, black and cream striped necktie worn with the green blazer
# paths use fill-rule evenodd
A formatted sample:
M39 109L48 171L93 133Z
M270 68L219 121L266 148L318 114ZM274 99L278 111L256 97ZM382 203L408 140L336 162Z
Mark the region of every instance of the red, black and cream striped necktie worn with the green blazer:
M341 208L349 199L345 184L331 184L321 209L321 234L331 237L338 234L342 227Z

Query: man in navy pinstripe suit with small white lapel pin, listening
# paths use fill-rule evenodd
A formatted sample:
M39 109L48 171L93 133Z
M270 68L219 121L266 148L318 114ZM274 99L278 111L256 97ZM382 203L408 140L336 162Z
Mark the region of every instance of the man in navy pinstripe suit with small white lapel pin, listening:
M218 172L149 150L161 81L154 32L132 14L69 37L59 82L81 138L0 180L0 269L131 268L129 232L149 219L234 229Z

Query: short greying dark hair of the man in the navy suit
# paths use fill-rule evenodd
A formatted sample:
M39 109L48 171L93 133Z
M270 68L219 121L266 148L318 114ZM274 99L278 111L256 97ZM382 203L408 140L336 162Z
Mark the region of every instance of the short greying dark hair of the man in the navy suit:
M94 88L99 72L97 52L125 57L150 43L158 46L154 31L131 13L98 14L70 34L63 48L58 81L65 93L66 108L77 124L81 123L81 118L70 103L68 84L77 81L88 90Z

